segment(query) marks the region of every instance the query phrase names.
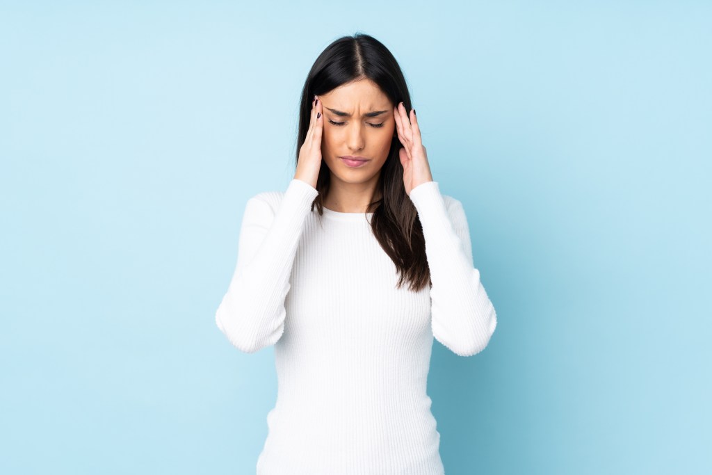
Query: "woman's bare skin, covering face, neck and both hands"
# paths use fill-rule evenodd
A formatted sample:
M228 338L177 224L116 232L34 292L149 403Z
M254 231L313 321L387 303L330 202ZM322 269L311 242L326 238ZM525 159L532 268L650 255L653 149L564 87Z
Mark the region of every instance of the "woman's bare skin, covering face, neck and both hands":
M377 192L381 167L397 136L404 145L399 150L403 182L408 195L419 184L433 181L415 111L394 105L372 80L356 80L341 85L312 101L310 128L300 151L295 178L315 186L319 167L330 170L331 187L325 207L337 212L362 213ZM333 110L350 114L337 115ZM385 111L376 117L366 113ZM335 125L339 122L342 125ZM374 125L382 124L382 127ZM365 165L348 167L340 155L370 159Z

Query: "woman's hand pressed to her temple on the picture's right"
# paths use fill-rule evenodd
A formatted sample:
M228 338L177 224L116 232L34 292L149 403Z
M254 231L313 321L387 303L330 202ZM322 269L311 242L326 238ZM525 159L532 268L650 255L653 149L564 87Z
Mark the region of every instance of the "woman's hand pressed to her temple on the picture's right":
M398 103L393 108L393 115L396 120L398 138L404 146L399 150L399 155L401 165L403 165L405 192L410 196L412 189L419 184L432 182L433 176L430 173L428 155L420 138L420 127L415 116L415 109L410 111L410 117L408 117L403 103Z

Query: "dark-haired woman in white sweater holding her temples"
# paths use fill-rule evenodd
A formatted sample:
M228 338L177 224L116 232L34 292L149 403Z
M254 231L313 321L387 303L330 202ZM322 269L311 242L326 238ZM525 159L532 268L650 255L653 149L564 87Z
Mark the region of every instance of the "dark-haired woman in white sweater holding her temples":
M433 338L474 355L497 324L471 252L398 63L365 34L333 42L303 88L294 178L248 200L216 313L239 350L275 347L258 474L444 473Z

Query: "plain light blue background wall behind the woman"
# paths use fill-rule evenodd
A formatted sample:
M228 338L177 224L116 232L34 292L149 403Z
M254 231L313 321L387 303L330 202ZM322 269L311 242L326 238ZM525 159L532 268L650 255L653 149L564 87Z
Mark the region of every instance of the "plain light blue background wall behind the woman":
M316 56L401 64L490 345L434 344L455 474L712 471L712 4L0 7L0 471L249 474L273 349L214 313Z

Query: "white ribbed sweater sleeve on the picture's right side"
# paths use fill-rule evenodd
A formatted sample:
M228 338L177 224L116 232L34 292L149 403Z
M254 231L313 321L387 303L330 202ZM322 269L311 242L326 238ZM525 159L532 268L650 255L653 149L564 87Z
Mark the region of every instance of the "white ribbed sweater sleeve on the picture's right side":
M489 343L497 315L473 266L462 204L452 197L445 199L438 182L419 184L410 199L423 226L432 281L433 335L457 355L475 355Z

